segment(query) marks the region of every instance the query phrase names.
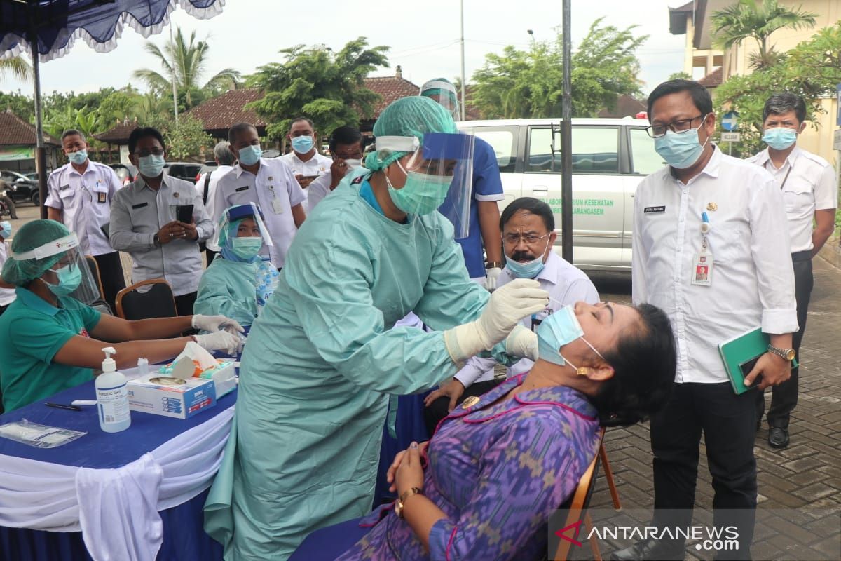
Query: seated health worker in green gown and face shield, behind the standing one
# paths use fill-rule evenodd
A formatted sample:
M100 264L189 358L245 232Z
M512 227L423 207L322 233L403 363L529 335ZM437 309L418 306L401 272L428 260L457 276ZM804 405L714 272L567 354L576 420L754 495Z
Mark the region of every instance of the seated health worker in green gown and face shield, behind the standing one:
M278 269L260 255L272 239L253 203L225 209L219 228L220 258L202 274L193 310L251 325L278 282Z

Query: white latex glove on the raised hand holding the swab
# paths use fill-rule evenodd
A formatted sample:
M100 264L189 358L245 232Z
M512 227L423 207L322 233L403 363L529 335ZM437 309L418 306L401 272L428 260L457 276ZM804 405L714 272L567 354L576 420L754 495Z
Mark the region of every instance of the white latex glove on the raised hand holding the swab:
M503 339L521 319L549 303L549 293L533 278L517 278L490 295L478 320L444 331L447 351L456 363L473 357Z

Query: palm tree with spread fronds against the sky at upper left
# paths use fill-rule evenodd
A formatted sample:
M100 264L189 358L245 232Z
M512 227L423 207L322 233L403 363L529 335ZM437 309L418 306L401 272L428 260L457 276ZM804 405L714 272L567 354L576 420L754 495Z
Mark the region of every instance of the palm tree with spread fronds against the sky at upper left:
M232 68L225 68L225 70L217 72L214 77L211 77L204 86L201 86L200 80L207 66L208 49L209 46L206 41L196 40L195 31L190 34L189 42L187 42L179 28L175 34L175 39L167 41L163 50L151 42L147 42L145 45L146 52L156 56L161 61L163 73L144 68L135 71L134 76L146 82L156 93L165 95L167 92L172 92L171 80L174 74L178 98L183 96L186 108L191 108L193 107L193 96L197 91L224 91L235 87L236 81L241 78L240 72Z

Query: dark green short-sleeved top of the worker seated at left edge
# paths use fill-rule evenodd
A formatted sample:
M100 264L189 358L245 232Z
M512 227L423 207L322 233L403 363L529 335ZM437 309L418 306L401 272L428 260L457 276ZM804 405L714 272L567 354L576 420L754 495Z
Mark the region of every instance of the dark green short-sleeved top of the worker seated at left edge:
M89 336L99 323L97 310L71 298L56 308L26 288L0 315L0 389L10 411L44 400L93 378L91 368L52 362L72 336Z

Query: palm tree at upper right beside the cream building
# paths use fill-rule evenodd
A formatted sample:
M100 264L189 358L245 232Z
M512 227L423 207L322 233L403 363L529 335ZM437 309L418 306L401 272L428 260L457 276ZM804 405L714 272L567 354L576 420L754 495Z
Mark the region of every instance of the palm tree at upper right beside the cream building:
M759 43L759 54L751 57L756 68L773 66L780 55L774 45L768 45L770 34L777 29L804 29L815 24L817 13L803 12L800 8L780 6L777 0L739 0L712 14L713 45L729 49L748 37Z

